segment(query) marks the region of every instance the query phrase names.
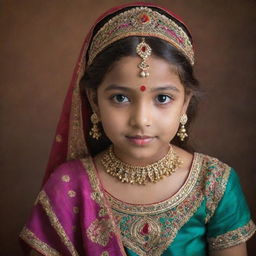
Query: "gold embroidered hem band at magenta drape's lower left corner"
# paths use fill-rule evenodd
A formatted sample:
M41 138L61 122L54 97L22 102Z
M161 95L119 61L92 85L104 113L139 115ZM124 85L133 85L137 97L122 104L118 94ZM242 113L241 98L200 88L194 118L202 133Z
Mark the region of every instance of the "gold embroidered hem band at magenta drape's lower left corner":
M61 256L61 254L50 247L48 244L41 241L32 231L24 227L20 233L20 238L22 238L27 244L29 244L33 249L46 256Z

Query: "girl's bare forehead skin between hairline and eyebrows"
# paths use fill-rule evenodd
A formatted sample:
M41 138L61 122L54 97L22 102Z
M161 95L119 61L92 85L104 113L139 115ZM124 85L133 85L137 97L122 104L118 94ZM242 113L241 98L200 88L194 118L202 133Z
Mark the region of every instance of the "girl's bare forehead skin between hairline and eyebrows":
M105 75L102 85L107 86L109 83L125 86L146 84L149 87L156 87L172 84L183 88L177 70L167 61L150 56L147 59L150 75L146 78L139 76L141 70L138 65L141 61L140 57L129 56L121 58L114 63L111 70Z

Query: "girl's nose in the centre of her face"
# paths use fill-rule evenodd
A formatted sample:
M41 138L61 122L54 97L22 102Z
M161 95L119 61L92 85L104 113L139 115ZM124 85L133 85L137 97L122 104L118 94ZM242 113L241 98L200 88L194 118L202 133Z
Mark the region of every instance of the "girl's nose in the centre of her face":
M135 104L130 113L130 125L137 129L142 129L152 125L151 107L143 102Z

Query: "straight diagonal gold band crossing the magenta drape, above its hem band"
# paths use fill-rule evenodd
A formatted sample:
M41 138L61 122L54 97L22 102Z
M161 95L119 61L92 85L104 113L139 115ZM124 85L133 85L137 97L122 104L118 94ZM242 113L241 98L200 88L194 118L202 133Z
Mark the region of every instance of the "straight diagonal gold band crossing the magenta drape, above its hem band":
M61 238L62 242L65 244L65 246L69 250L70 254L72 256L78 256L78 253L75 247L73 246L72 242L69 240L64 228L62 227L61 223L58 220L58 217L54 213L47 194L43 190L39 193L39 203L42 205L47 216L49 217L51 225L53 226L53 228Z

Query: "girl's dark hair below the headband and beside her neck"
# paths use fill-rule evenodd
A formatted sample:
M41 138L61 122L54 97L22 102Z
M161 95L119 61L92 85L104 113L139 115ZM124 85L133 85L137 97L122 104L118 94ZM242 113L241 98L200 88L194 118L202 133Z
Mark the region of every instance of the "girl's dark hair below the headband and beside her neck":
M108 17L108 19L109 18L111 17ZM104 22L106 21L104 20ZM102 24L98 25L99 27L95 28L96 31L102 26ZM95 30L94 33L96 33ZM186 30L186 32L188 31ZM188 35L190 37L189 32ZM170 63L170 65L175 67L175 69L177 70L177 74L179 75L180 81L184 85L185 93L192 93L192 98L190 100L187 110L188 123L186 124L186 129L188 129L191 121L196 114L199 98L199 83L194 77L193 68L189 60L183 55L183 53L181 53L170 43L156 37L145 37L145 41L152 48L153 55L166 60L168 63ZM86 88L96 90L103 81L104 76L111 70L116 61L127 56L138 56L136 53L136 46L140 42L141 37L130 36L112 43L102 52L100 52L95 57L92 64L86 68L86 71L80 81L80 86L83 94L85 95ZM90 136L86 136L86 138L88 138L87 143L89 145L89 150L92 155L99 153L111 144L105 134L102 136L99 143L96 143L95 140L92 140ZM175 136L175 138L172 140L172 143L186 150L193 151L186 141L181 142L177 136Z

